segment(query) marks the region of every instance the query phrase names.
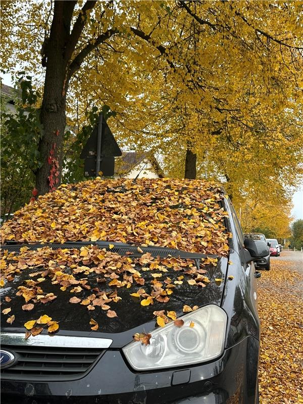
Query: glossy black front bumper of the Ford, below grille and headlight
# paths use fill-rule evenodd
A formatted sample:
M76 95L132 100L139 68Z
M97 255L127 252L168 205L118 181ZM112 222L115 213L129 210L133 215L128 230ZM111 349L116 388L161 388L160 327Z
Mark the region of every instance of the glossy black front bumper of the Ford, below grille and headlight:
M255 404L259 341L246 337L215 362L161 372L134 372L108 350L81 379L2 379L2 404Z

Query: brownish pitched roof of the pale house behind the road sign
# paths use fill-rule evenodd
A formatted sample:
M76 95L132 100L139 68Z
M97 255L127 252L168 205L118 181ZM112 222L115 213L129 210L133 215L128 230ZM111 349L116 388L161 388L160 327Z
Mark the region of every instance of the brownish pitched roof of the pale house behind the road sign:
M149 160L150 164L153 166L160 178L165 177L164 172L157 162L155 156L152 153L144 153L140 151L123 152L122 156L116 159L115 174L123 175L129 173L144 159Z

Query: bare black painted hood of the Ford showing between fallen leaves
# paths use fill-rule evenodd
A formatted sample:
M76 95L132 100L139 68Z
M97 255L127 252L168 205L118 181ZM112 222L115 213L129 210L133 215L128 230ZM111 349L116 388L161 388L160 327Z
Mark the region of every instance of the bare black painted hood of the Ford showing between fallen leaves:
M117 294L121 297L121 300L110 303L111 310L114 310L118 315L118 317L114 318L109 318L107 312L102 310L101 307L95 307L94 310L87 310L86 306L71 304L69 299L75 294L70 293L69 290L60 290L60 285L52 284L50 278L43 282L43 292L55 292L57 298L46 304L36 303L31 311L22 310L22 306L25 305L24 298L22 296L16 296L16 293L18 292L18 286L24 285L24 282L30 279L30 272L37 271L37 268L31 268L16 274L14 280L9 282L8 286L1 290L1 297L4 302L2 312L6 308L11 309L9 314L1 313L2 331L25 333L24 324L27 321L36 320L42 315L47 315L59 322L60 328L56 334L111 338L113 340L112 347L124 346L132 340L134 333L149 332L156 327L156 316L153 314L155 311L174 311L177 317L180 317L184 314L182 310L184 305L202 307L208 304L215 304L220 306L227 262L228 260L226 258L218 257L216 266L209 265L204 268L207 271L205 275L208 276L210 280L205 287L189 285L186 279L184 279L182 284L176 284L173 294L169 296L170 299L168 302L154 300L153 305L143 307L137 297L130 296L130 293L135 292L135 289L138 289L138 287L117 288ZM176 274L176 272L168 268L168 272L166 272L165 275L172 277L172 279L177 279L177 276L181 276L182 272ZM145 278L145 280L147 280L147 276L148 274L146 272L142 273L142 277ZM94 285L100 287L95 277L95 274L90 273L87 275L91 289L93 289ZM220 279L220 281L215 281L215 279ZM105 287L105 290L107 289L109 288ZM110 289L112 292L115 290L114 288ZM144 289L147 289L147 282L144 285ZM85 290L82 293L83 295L77 294L77 297L83 299L89 293L93 293L93 291ZM11 298L11 300L6 301L6 297L8 299ZM7 320L9 316L12 315L15 316L15 320L9 325L7 324ZM90 330L92 327L92 325L89 324L91 319L98 323L97 331ZM47 334L46 331L43 331L43 333ZM52 337L56 338L56 335L50 336L50 338ZM35 337L31 336L30 338Z

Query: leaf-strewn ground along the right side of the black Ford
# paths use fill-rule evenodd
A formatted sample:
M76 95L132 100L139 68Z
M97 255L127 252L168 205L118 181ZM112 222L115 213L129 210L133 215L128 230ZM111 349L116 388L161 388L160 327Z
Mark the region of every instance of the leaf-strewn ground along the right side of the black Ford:
M271 259L259 285L261 404L303 403L303 275L300 261Z

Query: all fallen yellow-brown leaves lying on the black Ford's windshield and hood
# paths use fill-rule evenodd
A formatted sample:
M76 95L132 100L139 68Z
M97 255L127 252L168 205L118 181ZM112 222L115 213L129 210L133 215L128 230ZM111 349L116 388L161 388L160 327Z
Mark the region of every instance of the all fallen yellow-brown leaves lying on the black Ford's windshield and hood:
M1 229L2 239L25 243L87 240L92 244L59 249L48 244L35 250L23 246L19 254L3 246L1 286L8 286L28 271L28 279L18 286L18 297L6 296L5 300L9 303L19 298L23 311L32 311L37 305L46 309L60 288L71 293L70 304L91 312L98 309L98 313L114 318L118 315L111 305L121 300L117 292L120 288L129 289L130 298L137 298L141 306L150 306L167 303L183 282L190 287L205 287L210 282L205 268L216 266L218 261L210 255L228 253L229 233L224 226L227 213L221 207L222 198L219 186L198 180L96 179L61 185L16 212ZM97 240L111 243L102 249L93 245ZM115 242L140 243L142 248L160 245L207 257L197 268L193 259L153 257L140 246L138 257L127 252L120 256L114 252ZM92 277L94 282L90 284L88 279ZM44 282L48 292L43 291ZM196 308L184 305L183 312ZM14 322L10 307L2 313L8 316L7 323ZM160 326L172 320L180 326L174 311L158 310L154 315ZM27 336L37 335L45 327L48 332L59 328L58 322L46 314L32 317L24 324ZM98 329L94 319L90 325L92 330Z

